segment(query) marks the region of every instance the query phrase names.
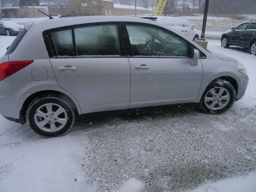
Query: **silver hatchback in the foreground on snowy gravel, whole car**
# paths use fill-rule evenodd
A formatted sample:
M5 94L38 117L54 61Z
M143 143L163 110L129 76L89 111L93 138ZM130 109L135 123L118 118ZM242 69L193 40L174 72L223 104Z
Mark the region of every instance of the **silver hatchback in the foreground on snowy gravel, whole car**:
M0 59L0 114L54 137L92 112L193 103L221 114L247 85L237 60L154 21L63 18L26 24Z

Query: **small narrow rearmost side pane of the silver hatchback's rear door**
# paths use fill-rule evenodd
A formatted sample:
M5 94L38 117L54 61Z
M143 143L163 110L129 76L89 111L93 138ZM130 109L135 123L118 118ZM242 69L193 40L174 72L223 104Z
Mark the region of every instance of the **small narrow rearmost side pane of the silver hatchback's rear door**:
M71 29L51 32L51 36L58 56L75 56Z

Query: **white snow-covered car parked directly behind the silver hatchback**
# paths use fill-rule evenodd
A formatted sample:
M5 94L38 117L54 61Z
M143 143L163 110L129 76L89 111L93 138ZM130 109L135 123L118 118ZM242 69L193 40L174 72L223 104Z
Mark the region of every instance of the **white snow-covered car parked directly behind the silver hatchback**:
M190 23L189 20L185 18L165 16L150 16L142 18L164 24L170 27L172 30L175 30L177 34L185 36L190 40L195 41L199 39L200 32L197 29L195 29L195 27Z

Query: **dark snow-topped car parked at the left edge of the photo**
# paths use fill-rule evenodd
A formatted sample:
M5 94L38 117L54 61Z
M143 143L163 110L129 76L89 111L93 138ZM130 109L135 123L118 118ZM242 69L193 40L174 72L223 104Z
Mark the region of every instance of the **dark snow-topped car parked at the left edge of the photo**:
M19 25L16 22L8 20L0 20L0 34L18 35L24 28L23 25Z

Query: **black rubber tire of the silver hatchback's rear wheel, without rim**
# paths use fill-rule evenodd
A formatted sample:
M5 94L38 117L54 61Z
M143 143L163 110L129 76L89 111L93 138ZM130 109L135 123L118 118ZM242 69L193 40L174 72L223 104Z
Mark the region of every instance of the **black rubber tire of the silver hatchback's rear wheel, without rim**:
M36 110L44 104L57 104L62 108L64 108L67 115L67 121L63 128L61 128L56 132L47 132L40 129L36 125L35 118L34 118L36 114ZM58 96L56 94L46 94L46 95L39 96L38 98L35 98L28 106L28 109L26 112L26 121L28 123L28 126L36 134L40 136L45 136L45 137L57 137L66 133L74 125L75 119L76 119L76 113L72 104L70 104L70 102L65 98L62 98L61 96Z

